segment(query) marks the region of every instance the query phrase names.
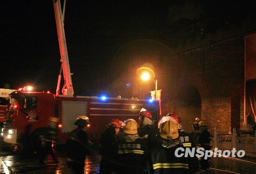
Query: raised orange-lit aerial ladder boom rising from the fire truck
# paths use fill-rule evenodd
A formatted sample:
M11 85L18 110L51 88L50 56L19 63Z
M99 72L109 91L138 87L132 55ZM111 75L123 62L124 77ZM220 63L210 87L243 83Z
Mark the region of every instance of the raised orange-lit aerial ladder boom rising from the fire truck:
M64 14L65 14L65 5L66 0L63 5L63 14L61 10L60 0L53 0L55 20L57 26L58 40L59 40L59 51L60 51L60 61L61 61L61 69L63 72L64 85L62 87L62 95L72 96L74 95L73 84L70 73L70 64L69 64L69 56L66 44L65 30L64 30ZM61 81L61 69L58 76L58 83L56 89L56 96L59 95L59 87Z

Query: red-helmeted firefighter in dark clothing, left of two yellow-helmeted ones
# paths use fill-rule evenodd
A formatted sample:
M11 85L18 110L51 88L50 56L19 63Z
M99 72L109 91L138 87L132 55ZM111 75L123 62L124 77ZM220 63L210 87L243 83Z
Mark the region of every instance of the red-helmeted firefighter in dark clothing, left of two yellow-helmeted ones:
M118 119L113 119L100 137L100 173L111 173L115 170L120 128L122 128L122 122Z

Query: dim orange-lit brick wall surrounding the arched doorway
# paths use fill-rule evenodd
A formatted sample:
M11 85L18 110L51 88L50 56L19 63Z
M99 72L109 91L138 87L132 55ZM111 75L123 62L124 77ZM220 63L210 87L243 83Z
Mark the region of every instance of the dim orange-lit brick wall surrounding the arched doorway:
M186 35L189 29L177 34L175 53L166 60L169 66L161 72L164 78L158 79L163 89L163 115L179 114L183 106L177 102L178 93L189 92L182 91L184 86L194 86L201 97L201 120L209 124L212 134L215 127L220 134L233 127L239 129L244 121L244 37L255 31L255 24L245 21L242 26L233 25L194 40ZM192 121L194 113L182 118Z

